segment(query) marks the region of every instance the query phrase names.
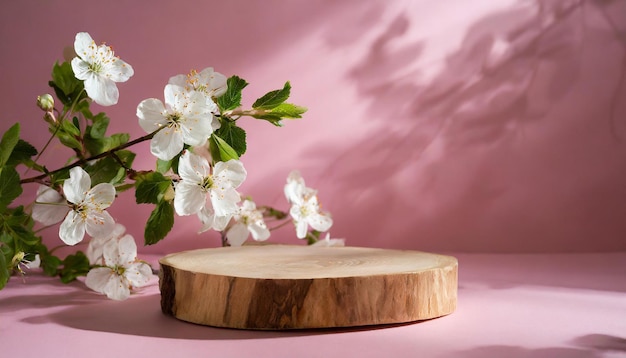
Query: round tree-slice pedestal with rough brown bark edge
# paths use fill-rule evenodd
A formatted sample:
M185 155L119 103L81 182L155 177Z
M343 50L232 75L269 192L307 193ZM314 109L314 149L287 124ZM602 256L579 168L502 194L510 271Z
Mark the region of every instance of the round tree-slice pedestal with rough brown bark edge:
M202 325L352 327L425 320L456 308L456 258L418 251L251 245L159 262L163 312Z

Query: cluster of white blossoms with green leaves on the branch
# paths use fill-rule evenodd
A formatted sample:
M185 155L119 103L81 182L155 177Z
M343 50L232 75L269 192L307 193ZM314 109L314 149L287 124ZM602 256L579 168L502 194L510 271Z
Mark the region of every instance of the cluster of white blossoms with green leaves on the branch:
M74 50L76 57L71 61L71 72L82 81L86 96L102 106L116 104L119 98L116 83L132 77L133 67L115 56L109 46L96 45L86 32L76 35ZM331 239L329 234L320 239L320 234L331 228L333 220L321 209L317 191L305 185L298 171L289 174L284 187L290 205L287 211L257 206L238 191L247 177L239 159L245 151L245 142L228 142L220 135L226 132L230 139L245 138L241 134L243 130L236 125L241 116L280 125L282 118L300 118L306 110L284 102L289 95L288 82L283 89L259 98L252 110L241 110L240 92L246 85L237 76L227 78L209 67L171 77L164 88L164 101L157 98L141 101L136 115L139 126L147 133L141 140L150 140L150 152L157 158L159 168L154 172L132 169L134 154L124 152L128 147L127 140L113 148L109 148L112 145L108 143L119 137L102 137L104 139L96 142L100 137L95 136L101 134L94 128L104 122L101 117L83 110L86 121L91 123L87 126L90 131L87 135L87 130L81 132L78 123L57 118L59 111L54 110L51 96L40 96L38 104L46 112L44 118L51 124L53 136L58 136L63 144L74 149L78 160L61 168L67 169L66 179L55 182L51 173L57 171L49 172L45 168L41 170L42 175L34 178L40 186L31 215L44 226L61 223L59 238L67 245L81 243L86 234L91 237L86 254L89 261L85 279L87 287L111 299L123 300L129 297L133 288L145 286L152 279L150 265L137 258L135 239L126 234L124 226L116 223L107 211L118 190L128 188L124 185L125 176L135 181L130 186L136 188L138 203L156 204L146 226L146 236L157 232L157 239L160 239L167 234L172 225L167 220L168 213L172 211L178 216L197 216L199 233L218 231L222 242L229 246L240 246L250 236L256 241L267 240L274 229L268 227L267 219L291 219L296 237L307 239L310 244L343 246L343 239ZM74 101L68 106L70 110L80 103L80 88L66 88L63 92L64 89L57 86L57 90L67 95L66 101ZM66 112L69 113L64 109L63 114ZM80 139L78 144L72 141L76 138ZM85 138L97 145L83 148ZM97 151L91 148L97 148ZM94 166L98 165L98 160L107 159L119 166L122 175L115 172L107 178L108 181L92 178L90 174L97 172ZM31 167L41 168L36 164ZM62 173L61 170L58 172ZM46 183L42 178L51 180ZM160 222L165 222L165 226ZM146 242L154 243L149 242L148 237ZM23 253L18 261L22 266L28 263Z

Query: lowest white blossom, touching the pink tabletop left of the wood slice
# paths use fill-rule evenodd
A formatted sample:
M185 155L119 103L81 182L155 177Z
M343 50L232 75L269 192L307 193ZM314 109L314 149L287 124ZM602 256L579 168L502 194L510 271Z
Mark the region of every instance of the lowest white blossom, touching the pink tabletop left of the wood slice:
M103 267L92 268L85 284L114 300L125 300L132 288L143 287L152 278L150 265L137 260L137 244L130 235L109 240L102 249Z

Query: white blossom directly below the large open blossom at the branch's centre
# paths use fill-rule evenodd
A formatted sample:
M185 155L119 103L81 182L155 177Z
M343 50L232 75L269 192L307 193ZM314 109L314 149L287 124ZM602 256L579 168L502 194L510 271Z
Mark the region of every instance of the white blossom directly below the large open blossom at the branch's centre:
M205 213L225 217L237 213L241 200L236 189L246 179L243 164L231 159L217 162L213 171L206 158L185 151L178 163L181 181L175 186L174 208L178 215Z

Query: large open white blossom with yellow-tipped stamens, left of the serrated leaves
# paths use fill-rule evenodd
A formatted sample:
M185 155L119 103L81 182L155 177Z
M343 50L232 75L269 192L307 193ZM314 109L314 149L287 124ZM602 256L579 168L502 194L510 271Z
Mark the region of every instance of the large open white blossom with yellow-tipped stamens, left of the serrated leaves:
M157 158L170 160L183 150L185 144L204 145L219 121L213 117L215 103L207 102L204 94L186 91L183 87L165 86L165 104L148 98L137 106L139 125L147 133L158 131L150 141L150 151Z

